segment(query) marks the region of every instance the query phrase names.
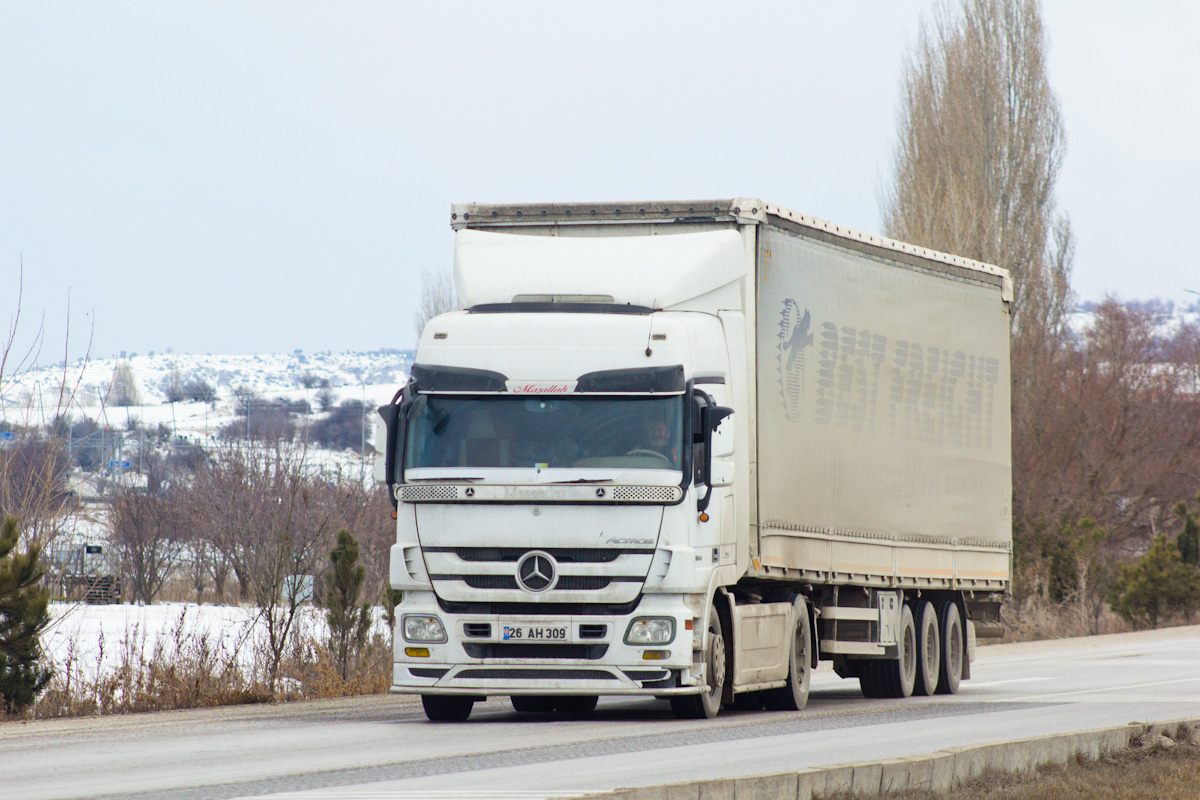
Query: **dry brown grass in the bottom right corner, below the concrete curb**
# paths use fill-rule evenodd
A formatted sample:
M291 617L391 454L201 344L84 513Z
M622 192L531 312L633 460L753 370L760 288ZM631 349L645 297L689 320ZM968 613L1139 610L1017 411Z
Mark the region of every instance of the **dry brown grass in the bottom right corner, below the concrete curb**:
M893 792L877 800L1196 800L1200 798L1200 736L1178 742L1154 738L1099 760L1043 766L1026 775L985 772L948 794ZM823 800L850 800L835 794ZM858 800L862 800L859 795Z

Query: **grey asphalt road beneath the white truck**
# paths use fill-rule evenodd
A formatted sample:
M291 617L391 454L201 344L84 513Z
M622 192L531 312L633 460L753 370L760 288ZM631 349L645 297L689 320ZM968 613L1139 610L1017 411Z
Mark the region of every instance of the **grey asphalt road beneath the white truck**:
M1200 717L1200 626L979 648L958 696L869 700L827 667L797 712L678 721L602 698L587 718L508 698L431 723L409 697L0 723L0 796L570 796Z

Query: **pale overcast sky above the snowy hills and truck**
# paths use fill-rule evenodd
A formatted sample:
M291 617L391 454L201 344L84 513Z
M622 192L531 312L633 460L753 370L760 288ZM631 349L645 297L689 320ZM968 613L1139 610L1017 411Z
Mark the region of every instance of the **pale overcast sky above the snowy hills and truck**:
M0 0L0 324L412 347L450 204L750 196L881 230L932 0ZM1195 300L1200 4L1045 0L1081 300ZM10 365L11 367L11 365Z

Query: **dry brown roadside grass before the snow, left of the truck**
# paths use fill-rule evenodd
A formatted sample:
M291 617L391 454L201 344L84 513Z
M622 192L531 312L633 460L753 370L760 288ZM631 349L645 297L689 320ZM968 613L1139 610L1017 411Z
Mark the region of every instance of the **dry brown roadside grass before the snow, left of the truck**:
M254 645L252 633L246 626L229 644L208 631L192 630L186 612L164 639L154 643L133 625L115 652L106 652L101 638L88 663L72 646L37 703L22 715L0 715L0 720L349 697L385 692L391 684L391 648L384 637L377 634L367 644L343 680L323 643L296 636L272 691L266 680L268 655Z

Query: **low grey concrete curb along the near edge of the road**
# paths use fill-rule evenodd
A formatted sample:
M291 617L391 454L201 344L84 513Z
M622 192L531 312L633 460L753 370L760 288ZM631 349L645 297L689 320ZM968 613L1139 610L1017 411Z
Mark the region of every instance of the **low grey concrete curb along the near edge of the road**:
M794 772L752 777L690 781L670 786L617 789L588 795L596 800L814 800L836 792L877 795L881 792L928 789L949 792L986 770L1020 774L1044 764L1066 764L1073 758L1096 759L1162 734L1186 738L1200 728L1200 718L1171 722L1134 722L1084 733L1034 736L1018 741L950 747L923 756L883 762L857 762L816 766Z

